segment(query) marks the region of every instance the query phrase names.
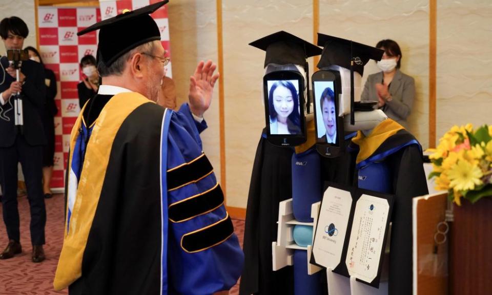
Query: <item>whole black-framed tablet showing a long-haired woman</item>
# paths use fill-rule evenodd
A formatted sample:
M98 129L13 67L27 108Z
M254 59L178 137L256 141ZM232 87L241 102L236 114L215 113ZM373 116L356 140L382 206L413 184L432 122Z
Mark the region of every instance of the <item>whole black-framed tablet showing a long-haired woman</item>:
M305 141L303 78L293 72L274 72L264 76L265 117L268 139L290 146Z

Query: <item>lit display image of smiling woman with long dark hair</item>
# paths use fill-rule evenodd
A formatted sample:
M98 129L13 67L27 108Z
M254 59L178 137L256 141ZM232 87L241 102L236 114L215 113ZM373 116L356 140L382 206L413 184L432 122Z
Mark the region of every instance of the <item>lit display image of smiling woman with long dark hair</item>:
M299 94L288 80L276 81L268 95L271 134L300 134Z

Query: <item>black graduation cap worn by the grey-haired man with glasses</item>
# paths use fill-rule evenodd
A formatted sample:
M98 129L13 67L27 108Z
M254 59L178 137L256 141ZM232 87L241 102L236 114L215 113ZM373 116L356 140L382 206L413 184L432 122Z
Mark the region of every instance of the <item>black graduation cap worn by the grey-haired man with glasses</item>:
M137 46L160 40L160 31L149 15L167 4L169 0L118 14L77 33L78 36L99 30L97 62L107 67Z

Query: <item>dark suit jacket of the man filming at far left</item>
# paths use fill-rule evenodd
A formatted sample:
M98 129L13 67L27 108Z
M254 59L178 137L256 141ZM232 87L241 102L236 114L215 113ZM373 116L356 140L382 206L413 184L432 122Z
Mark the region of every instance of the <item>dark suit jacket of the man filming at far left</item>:
M5 58L3 59L5 60ZM4 62L2 64L4 65ZM46 99L45 70L39 62L26 60L23 61L20 71L26 76L21 93L23 95L24 138L30 145L44 145L46 144L46 138L41 112ZM15 81L5 71L1 76L4 75L5 82L0 85L0 93L9 89L10 84ZM0 147L12 146L18 133L18 128L15 127L13 105L13 99L11 99L3 106L0 106L2 108L0 110L2 111L2 117L6 116L10 119L8 121L0 117Z

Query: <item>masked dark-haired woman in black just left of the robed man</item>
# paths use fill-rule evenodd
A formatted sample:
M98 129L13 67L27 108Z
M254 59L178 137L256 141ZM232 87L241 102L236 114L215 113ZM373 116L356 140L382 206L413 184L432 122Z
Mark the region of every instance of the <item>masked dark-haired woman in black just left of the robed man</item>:
M94 97L99 90L99 73L96 69L96 59L92 55L86 55L80 59L80 70L84 74L84 80L77 84L78 104L80 110L84 104Z

